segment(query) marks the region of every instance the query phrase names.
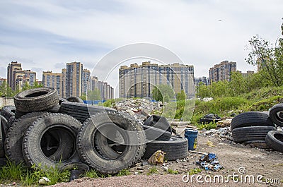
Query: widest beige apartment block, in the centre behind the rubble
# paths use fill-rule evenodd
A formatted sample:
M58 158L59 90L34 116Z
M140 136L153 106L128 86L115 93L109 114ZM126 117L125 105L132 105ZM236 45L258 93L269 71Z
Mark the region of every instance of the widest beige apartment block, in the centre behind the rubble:
M184 90L188 98L195 97L194 67L146 61L119 69L119 97L152 97L154 86L162 84L171 85L175 94Z

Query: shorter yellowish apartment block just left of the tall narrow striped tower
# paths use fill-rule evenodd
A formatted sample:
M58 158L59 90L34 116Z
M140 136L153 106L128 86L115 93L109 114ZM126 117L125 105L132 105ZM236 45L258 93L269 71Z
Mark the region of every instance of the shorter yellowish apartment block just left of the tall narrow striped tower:
M43 87L54 88L57 90L59 97L62 95L62 73L52 73L52 71L42 72Z

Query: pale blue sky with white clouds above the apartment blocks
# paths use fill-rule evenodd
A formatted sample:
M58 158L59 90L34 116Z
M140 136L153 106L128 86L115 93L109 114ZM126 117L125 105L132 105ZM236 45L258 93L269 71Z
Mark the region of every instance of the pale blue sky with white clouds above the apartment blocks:
M139 43L172 52L180 61L168 63L193 65L195 77L209 76L210 67L226 60L236 61L239 71L255 71L245 61L248 40L260 35L275 43L282 37L282 10L282 0L2 0L0 78L6 78L11 61L36 71L39 80L42 71L58 73L67 62L81 61L115 87L119 66L141 64L143 59L121 64L103 58Z

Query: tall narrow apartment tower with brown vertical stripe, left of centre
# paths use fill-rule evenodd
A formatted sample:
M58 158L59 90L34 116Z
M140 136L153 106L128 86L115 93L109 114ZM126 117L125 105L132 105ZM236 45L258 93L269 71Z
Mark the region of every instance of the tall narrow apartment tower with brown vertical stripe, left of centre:
M81 62L67 63L66 97L80 97L83 93L83 64Z

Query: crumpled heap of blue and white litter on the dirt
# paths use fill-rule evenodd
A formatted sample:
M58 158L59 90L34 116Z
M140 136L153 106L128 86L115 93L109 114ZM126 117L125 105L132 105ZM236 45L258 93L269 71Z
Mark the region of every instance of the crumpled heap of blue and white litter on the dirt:
M219 164L216 154L207 153L202 155L200 159L197 161L197 164L200 164L205 170L217 171L218 169L222 169L223 167Z

